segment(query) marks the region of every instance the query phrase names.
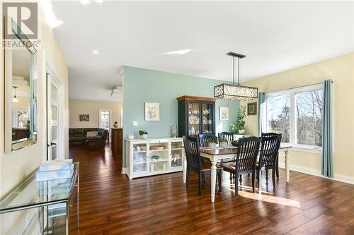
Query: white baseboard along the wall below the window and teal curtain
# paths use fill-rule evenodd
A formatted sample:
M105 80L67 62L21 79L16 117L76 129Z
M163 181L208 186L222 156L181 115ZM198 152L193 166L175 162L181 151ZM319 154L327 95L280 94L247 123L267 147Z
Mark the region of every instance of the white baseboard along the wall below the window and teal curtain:
M285 169L285 164L284 162L279 162L279 167L282 169ZM298 166L298 165L293 165L290 164L290 170L291 171L297 171L297 172L301 172L304 174L311 174L312 176L318 176L324 179L331 179L331 178L327 178L325 176L321 175L321 171L319 169L314 169L314 168L309 168L309 167L302 167L302 166ZM331 179L333 181L341 181L343 183L350 183L350 184L354 184L354 177L353 176L347 176L344 174L336 174L334 173L334 178ZM291 177L290 177L290 181L291 181Z

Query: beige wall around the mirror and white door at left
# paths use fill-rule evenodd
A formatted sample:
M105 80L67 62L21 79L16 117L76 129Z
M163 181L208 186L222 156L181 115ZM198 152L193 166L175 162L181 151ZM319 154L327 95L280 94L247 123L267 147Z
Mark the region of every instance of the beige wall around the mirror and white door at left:
M0 6L1 8L1 6ZM39 11L42 14L42 11ZM21 183L29 174L37 169L38 164L46 159L46 126L45 126L45 71L46 64L52 68L64 83L64 112L68 117L68 67L62 54L62 50L55 38L55 34L46 23L42 22L42 47L38 50L38 143L22 150L4 154L4 115L0 115L0 198ZM0 32L2 30L2 18ZM0 49L0 110L4 112L4 50ZM64 121L65 130L68 129L68 118ZM65 133L65 157L68 155L68 131ZM12 215L1 215L0 234L21 234L25 227L25 219L21 218L21 212Z

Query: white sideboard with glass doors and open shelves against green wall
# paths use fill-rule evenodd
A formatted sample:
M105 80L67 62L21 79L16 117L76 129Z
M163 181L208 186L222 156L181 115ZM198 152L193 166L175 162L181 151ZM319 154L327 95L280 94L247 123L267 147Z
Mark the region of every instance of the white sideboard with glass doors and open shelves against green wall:
M125 139L129 179L182 171L183 138Z

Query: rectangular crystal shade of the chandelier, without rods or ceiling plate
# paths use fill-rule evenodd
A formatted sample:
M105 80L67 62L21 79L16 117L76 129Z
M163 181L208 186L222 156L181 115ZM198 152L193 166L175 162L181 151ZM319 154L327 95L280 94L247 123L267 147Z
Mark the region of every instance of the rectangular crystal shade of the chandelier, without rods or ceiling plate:
M253 100L258 98L258 88L222 83L214 87L214 97L222 100Z

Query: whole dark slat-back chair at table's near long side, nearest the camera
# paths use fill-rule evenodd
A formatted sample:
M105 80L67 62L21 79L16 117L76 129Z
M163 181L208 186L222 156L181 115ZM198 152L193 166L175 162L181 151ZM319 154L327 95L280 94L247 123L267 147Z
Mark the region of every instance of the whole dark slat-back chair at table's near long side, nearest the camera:
M256 191L254 183L256 181L256 161L260 143L261 138L258 137L240 138L236 159L220 164L224 171L228 171L236 177L234 180L236 197L239 195L239 176L242 174L252 174L253 193Z

